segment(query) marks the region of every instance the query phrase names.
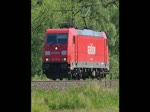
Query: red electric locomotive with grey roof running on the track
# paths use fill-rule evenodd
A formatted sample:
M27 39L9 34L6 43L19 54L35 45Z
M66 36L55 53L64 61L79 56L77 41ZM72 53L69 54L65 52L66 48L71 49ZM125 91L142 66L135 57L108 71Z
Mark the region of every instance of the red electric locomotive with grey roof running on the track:
M90 29L47 29L43 73L50 79L101 78L109 71L105 32Z

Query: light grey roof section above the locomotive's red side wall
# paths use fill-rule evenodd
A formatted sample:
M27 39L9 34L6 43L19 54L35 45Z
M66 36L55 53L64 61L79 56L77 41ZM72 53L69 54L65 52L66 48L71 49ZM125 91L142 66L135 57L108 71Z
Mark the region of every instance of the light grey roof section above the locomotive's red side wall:
M102 32L93 31L89 29L79 30L75 29L78 35L86 35L86 36L95 36L95 37L103 37Z

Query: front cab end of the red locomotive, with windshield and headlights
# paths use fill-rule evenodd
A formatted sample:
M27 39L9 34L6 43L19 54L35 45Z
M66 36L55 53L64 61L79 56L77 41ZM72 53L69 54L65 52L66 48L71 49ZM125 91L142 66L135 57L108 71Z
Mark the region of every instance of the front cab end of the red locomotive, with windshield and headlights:
M46 30L43 50L43 73L48 78L60 78L62 80L65 77L68 68L67 41L67 30Z

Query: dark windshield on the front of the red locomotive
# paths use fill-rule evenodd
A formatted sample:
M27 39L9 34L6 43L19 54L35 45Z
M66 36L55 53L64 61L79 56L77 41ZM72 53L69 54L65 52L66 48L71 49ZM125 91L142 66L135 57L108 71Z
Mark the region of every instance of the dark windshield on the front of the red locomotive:
M67 34L48 34L47 44L66 44Z

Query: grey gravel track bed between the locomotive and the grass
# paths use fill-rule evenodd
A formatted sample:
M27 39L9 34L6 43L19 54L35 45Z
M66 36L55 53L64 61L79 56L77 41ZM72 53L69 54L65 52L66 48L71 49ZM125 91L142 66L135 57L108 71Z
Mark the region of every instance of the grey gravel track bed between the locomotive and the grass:
M70 87L79 87L87 84L99 83L101 86L114 87L118 85L119 80L66 80L66 81L32 81L31 87L41 88L43 90L57 89L59 91L69 89Z

